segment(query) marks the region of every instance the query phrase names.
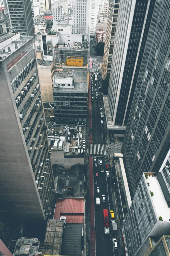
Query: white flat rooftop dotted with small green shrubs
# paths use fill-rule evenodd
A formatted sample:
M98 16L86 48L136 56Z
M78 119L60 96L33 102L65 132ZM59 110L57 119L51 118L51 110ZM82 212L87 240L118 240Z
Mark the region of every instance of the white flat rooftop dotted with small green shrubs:
M156 217L158 219L159 216L161 216L163 218L163 221L167 221L169 223L170 208L167 205L160 183L156 176L152 177L152 175L155 173L151 173L150 176L149 176L149 173L147 174L148 174L148 179L145 178L144 176L145 174L143 174L143 176L144 176L145 182L149 183L149 186L147 184L149 195L150 195L150 191L153 192L153 196L150 195L150 200L152 202Z

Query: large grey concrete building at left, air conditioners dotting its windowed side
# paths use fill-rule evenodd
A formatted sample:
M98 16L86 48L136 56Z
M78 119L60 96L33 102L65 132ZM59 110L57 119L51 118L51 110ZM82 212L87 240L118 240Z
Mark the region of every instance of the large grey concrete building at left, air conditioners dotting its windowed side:
M54 180L35 40L0 36L0 219L38 224L54 213Z

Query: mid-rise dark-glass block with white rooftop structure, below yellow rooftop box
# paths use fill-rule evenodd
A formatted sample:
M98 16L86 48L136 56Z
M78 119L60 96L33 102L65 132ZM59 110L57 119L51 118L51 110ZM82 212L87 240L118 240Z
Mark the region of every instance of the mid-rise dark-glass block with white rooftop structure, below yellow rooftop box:
M64 68L54 75L54 115L56 124L87 122L87 72L82 68ZM72 70L75 70L72 71Z

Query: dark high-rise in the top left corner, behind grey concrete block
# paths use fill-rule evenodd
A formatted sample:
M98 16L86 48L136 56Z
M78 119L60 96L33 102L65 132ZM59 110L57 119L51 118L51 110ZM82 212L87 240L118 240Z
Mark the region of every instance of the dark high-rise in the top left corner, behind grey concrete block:
M34 36L31 2L27 0L4 0L9 15L9 31L21 33L21 36Z

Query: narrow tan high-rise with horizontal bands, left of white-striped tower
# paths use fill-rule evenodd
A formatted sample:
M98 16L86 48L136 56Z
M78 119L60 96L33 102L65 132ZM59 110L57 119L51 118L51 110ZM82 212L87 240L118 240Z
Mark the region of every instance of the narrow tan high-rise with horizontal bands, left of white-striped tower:
M103 14L105 15L104 17L107 16L106 40L105 40L105 49L104 49L104 57L103 57L103 69L104 69L105 76L103 78L105 78L106 76L110 76L113 48L114 48L115 35L116 35L116 26L117 26L117 19L118 19L118 11L119 11L119 2L120 2L119 0L110 0L109 5L105 3L105 5L101 7L102 10L100 11L100 13L104 12ZM107 6L109 10L107 10ZM104 21L104 17L103 17L103 21ZM102 22L102 18L100 22Z

